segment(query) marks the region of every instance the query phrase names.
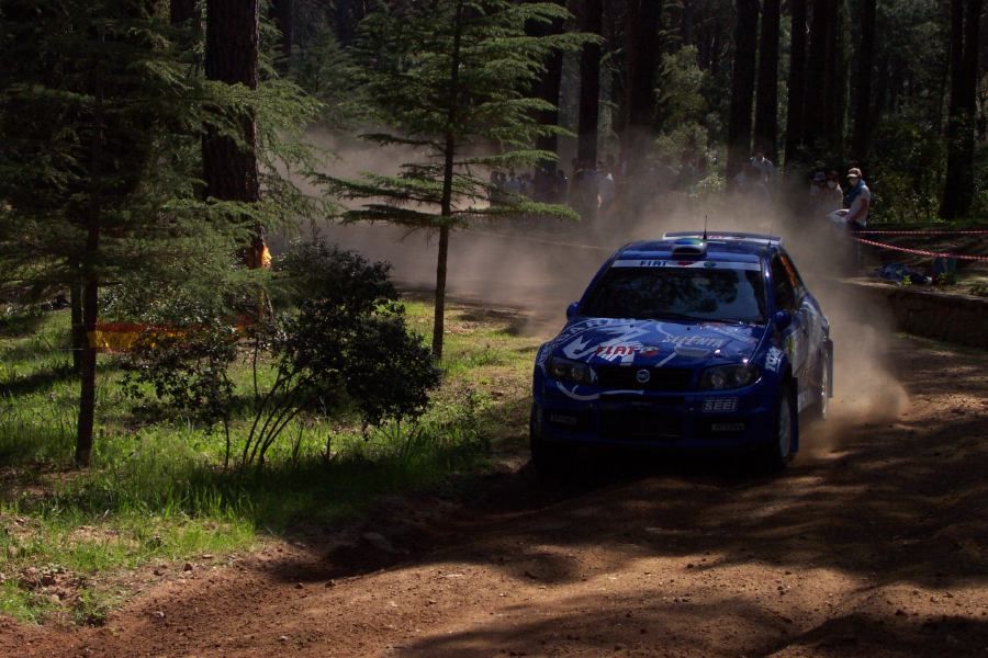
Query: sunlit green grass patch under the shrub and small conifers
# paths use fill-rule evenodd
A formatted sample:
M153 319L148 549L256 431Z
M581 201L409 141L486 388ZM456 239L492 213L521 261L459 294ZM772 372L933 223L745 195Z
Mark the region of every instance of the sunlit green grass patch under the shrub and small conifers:
M406 311L428 340L431 306L409 300ZM68 314L9 318L0 333L0 613L100 623L127 595L121 579L143 565L249 551L353 519L381 496L483 469L491 442L527 419L539 341L519 336L510 314L451 306L447 326L444 384L419 421L367 432L347 418L299 422L262 470L222 468L221 432L135 412L116 360L103 356L93 466L78 472ZM249 395L249 368L235 375ZM236 419L235 434L245 423Z

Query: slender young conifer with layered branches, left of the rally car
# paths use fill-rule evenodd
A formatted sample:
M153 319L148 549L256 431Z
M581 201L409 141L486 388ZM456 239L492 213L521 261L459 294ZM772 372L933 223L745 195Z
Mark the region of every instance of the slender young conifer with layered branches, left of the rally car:
M357 58L360 81L378 118L393 132L366 135L379 144L422 150L422 160L397 175L363 180L327 177L337 194L364 200L345 219L384 220L439 234L433 354L442 356L447 258L450 234L470 219L512 215L575 218L569 208L526 198L487 204L482 172L528 167L554 154L536 150L540 137L561 128L540 125L551 104L529 94L558 49L579 48L579 34L526 34L526 23L565 20L565 9L548 2L452 0L381 7L361 24ZM475 155L494 145L492 155ZM486 149L485 150L490 150Z

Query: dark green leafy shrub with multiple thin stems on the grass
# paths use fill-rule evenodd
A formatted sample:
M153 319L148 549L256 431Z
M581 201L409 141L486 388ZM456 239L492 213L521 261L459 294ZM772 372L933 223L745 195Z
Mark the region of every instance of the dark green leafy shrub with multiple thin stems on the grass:
M352 410L364 426L417 418L439 371L420 337L409 333L389 266L322 241L295 243L273 275L285 308L238 329L217 316L173 331L147 331L131 353L128 390L150 389L167 408L206 427L221 424L228 465L231 421L248 410L240 466L263 464L296 419ZM293 308L294 307L294 308ZM246 356L252 392L239 396L232 368Z

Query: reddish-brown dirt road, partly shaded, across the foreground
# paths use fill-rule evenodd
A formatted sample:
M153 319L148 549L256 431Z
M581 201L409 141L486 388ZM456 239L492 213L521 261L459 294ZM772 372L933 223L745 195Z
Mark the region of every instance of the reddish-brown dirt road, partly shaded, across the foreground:
M607 458L546 481L509 423L494 473L173 565L101 627L0 620L0 655L984 656L988 354L864 338L876 361L839 362L781 476Z

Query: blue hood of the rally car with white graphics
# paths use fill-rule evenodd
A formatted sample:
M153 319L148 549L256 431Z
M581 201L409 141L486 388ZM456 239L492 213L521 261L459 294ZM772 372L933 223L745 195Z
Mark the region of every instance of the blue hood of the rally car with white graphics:
M698 367L751 359L764 333L764 325L598 318L566 326L547 352L592 365Z

